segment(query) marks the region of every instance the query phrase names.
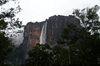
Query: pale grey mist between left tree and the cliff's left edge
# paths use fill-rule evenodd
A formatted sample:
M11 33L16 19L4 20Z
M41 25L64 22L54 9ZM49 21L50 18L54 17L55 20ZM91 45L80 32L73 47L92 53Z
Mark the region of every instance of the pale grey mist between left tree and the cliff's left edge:
M22 32L18 32L22 31ZM18 47L20 44L22 44L24 39L24 29L15 29L14 31L11 31L8 35L9 39L11 39L12 43L15 45L15 47Z

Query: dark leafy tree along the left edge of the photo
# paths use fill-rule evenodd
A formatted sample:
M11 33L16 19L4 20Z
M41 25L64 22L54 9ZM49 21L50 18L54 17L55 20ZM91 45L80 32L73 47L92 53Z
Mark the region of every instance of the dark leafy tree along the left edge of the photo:
M9 1L10 0L0 0L0 6L3 6ZM10 8L9 10L0 13L0 66L7 65L5 63L5 60L7 59L8 54L12 51L14 47L6 32L8 30L21 27L21 22L18 20L14 20L16 12L20 11L20 7L18 6L16 10L14 10L14 8ZM11 20L6 21L6 19Z

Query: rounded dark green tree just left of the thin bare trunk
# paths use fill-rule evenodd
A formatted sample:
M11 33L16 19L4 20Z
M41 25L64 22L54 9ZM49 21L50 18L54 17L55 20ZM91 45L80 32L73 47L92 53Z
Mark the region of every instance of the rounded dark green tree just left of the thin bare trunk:
M68 65L68 51L59 45L52 47L52 65L66 66Z

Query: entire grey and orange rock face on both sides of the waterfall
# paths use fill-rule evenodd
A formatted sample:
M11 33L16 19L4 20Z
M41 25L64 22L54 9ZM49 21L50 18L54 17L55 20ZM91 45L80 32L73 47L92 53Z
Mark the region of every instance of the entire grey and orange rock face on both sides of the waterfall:
M24 60L20 59L19 63L25 63L25 58L27 58L27 53L29 50L32 49L32 47L36 46L36 43L40 42L40 35L43 24L47 22L47 30L46 30L46 43L50 44L57 44L57 41L61 39L61 33L62 30L67 26L69 23L73 23L75 25L78 25L78 20L74 18L73 16L51 16L49 19L43 21L43 22L36 22L32 23L29 22L25 28L24 28L24 40L23 43L17 48L20 49L23 54L21 56L17 56L17 60L22 58ZM16 50L18 53L19 51ZM16 59L16 58L15 58ZM14 63L15 63L14 62Z

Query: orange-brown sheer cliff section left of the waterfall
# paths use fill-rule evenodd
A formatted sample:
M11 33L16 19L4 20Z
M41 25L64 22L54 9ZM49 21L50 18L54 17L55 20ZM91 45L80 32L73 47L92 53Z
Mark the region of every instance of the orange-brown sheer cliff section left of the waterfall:
M41 23L28 23L24 28L24 40L22 43L23 50L30 50L32 47L36 46L36 43L40 42L40 34L42 25Z

